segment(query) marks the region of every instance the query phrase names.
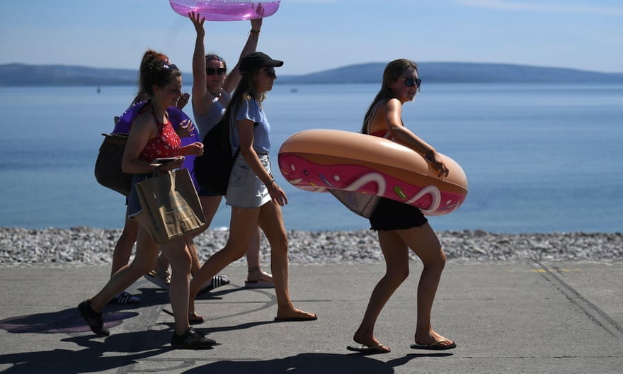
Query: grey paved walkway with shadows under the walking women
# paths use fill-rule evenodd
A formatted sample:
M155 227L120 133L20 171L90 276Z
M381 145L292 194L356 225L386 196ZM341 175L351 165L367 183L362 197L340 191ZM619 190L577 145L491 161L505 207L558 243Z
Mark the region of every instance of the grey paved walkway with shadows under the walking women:
M142 302L110 305L111 335L91 334L76 312L109 266L0 267L3 373L620 373L623 262L447 263L433 309L435 329L459 345L420 351L413 343L415 283L391 298L376 335L391 353L347 351L383 264L290 266L297 307L316 322L274 323L274 290L246 290L246 268L198 300L198 325L221 346L169 348L168 293L141 279Z

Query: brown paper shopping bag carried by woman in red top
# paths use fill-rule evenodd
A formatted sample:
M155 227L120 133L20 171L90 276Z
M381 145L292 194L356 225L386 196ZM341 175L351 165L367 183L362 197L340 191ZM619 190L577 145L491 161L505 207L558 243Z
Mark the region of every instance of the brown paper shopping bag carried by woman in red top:
M157 244L198 232L206 224L188 169L154 176L137 183L136 188L150 218L149 233Z

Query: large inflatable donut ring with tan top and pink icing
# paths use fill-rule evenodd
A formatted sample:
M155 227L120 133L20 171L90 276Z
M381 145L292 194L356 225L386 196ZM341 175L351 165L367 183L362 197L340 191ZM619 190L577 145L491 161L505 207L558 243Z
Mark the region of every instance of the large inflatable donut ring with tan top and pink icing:
M382 137L341 130L304 130L279 150L279 169L305 191L356 191L419 208L425 215L453 212L467 196L467 176L441 154L450 170L438 176L429 162L408 147Z

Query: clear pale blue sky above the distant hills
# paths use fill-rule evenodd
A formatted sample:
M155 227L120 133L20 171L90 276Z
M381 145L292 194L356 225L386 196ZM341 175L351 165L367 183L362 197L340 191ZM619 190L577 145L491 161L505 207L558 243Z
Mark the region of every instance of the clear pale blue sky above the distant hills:
M190 72L195 30L168 0L1 1L0 64L137 69L153 48ZM620 0L282 0L258 50L282 74L399 57L623 72L622 21ZM231 66L249 28L207 22L206 50Z

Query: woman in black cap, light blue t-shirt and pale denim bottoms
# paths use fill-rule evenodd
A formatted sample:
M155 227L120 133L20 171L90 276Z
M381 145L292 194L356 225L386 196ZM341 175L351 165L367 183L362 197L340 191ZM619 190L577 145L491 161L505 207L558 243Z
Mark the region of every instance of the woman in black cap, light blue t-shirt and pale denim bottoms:
M229 123L232 154L234 149L240 148L227 186L227 204L232 206L229 238L225 247L210 256L190 283L190 313L195 312L194 299L200 286L229 263L244 256L248 241L259 225L270 242L278 304L275 321L317 319L316 314L295 308L290 300L287 234L281 213L287 197L270 173L270 125L262 101L273 89L277 78L275 67L282 64L262 52L251 52L240 61L241 80L224 115Z

